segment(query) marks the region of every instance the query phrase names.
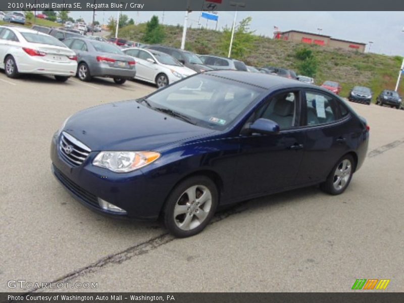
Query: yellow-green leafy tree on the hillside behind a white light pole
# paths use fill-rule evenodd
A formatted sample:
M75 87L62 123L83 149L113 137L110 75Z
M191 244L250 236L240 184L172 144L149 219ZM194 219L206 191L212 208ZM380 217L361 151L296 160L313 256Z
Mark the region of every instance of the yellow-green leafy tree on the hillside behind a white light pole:
M251 17L247 17L240 21L234 29L233 44L231 47L231 57L239 60L246 58L254 47L256 36L255 31L249 29ZM230 47L232 28L225 27L223 29L223 39L220 44L220 51L222 55L227 55Z

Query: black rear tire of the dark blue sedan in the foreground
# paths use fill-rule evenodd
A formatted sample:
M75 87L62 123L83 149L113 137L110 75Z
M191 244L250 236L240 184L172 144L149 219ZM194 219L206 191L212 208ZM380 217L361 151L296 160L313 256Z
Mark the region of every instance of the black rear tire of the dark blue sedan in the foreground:
M346 163L345 161L349 161L349 174L346 174L347 171L343 169L343 165L344 163ZM327 177L327 180L320 184L321 190L332 195L343 193L345 189L348 187L350 180L352 179L355 167L356 162L351 155L343 156L341 159L337 161L335 166L332 168L330 174ZM338 181L337 170L339 171L339 173L341 173L342 171L344 172L344 174L341 174L342 176L340 177L339 183L337 183ZM343 185L342 181L344 181Z

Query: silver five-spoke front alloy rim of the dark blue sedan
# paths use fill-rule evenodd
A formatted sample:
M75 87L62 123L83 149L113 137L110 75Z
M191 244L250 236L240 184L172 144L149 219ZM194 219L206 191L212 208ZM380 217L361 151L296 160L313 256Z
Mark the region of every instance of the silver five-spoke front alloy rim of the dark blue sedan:
M212 208L212 193L204 185L186 189L174 207L174 221L182 230L192 230L203 223Z

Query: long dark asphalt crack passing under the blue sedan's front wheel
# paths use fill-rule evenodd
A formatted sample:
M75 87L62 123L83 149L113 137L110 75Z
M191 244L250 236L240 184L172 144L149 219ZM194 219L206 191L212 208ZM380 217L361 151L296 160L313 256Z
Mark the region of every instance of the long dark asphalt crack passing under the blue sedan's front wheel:
M246 204L247 201L243 201L242 203L238 204L238 207L235 206L231 210L228 210L226 212L219 212L215 215L215 217L212 219L212 221L208 224L215 224L231 215L239 214L247 210L248 208L240 208L241 205ZM147 254L148 252L155 250L159 248L160 246L170 243L171 241L175 240L176 238L169 233L163 233L161 235L158 235L154 238L151 238L145 242L142 242L140 244L136 244L134 246L131 246L129 248L126 248L125 250L119 251L116 254L109 255L107 257L101 258L91 264L89 264L86 267L82 267L80 269L77 269L73 272L70 272L63 277L60 277L52 282L46 283L46 285L55 285L57 283L65 283L72 281L78 277L82 277L88 274L92 274L97 272L98 270L102 269L103 267L107 265L112 265L112 264L121 264L125 261L128 261L132 259L133 257L136 256L141 256L144 254ZM48 289L47 287L37 287L33 288L31 290L26 289L25 293L22 295L28 295L33 292L40 292L41 290Z

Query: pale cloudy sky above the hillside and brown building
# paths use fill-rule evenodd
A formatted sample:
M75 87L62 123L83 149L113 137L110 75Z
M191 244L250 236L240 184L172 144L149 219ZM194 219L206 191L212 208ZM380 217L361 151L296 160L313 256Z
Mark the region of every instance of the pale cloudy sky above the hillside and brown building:
M148 21L157 15L160 21L168 25L183 25L185 12L123 12L135 23ZM107 23L110 16L116 18L118 12L96 12L96 20ZM163 19L164 14L164 19ZM91 22L92 12L71 12L74 19L84 18ZM198 27L200 12L191 12L188 27ZM367 43L371 53L389 56L404 56L404 12L238 12L237 23L243 18L252 17L250 29L257 34L272 37L274 26L280 31L300 30L332 36L337 39ZM232 26L234 12L219 12L218 29ZM200 18L200 24L206 27L206 19ZM208 27L215 29L216 22L209 21Z

